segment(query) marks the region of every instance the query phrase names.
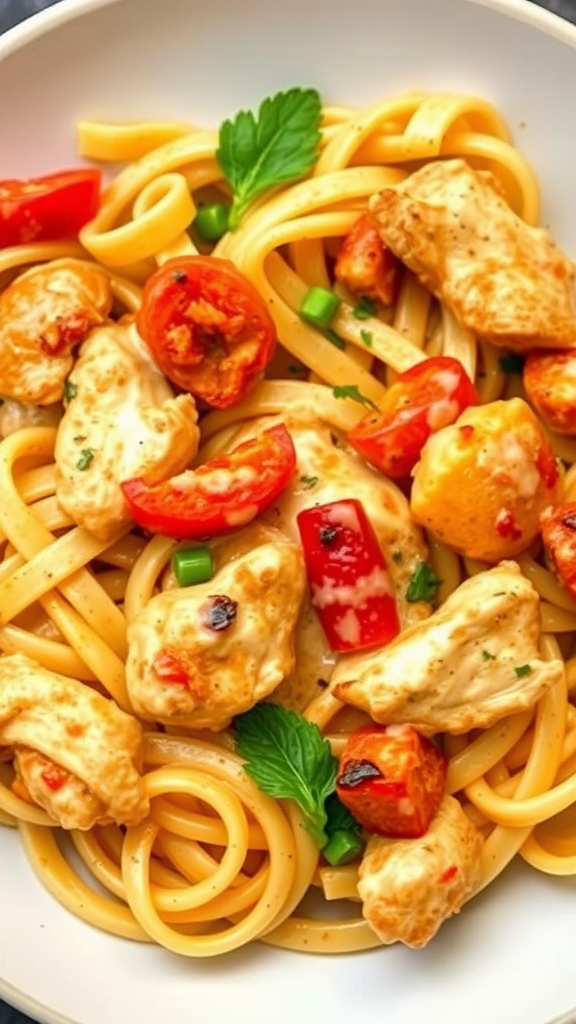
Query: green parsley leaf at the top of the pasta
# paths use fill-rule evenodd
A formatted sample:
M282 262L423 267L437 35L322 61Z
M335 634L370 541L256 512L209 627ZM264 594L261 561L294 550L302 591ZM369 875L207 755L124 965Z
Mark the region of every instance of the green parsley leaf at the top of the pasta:
M233 191L232 230L266 188L294 181L314 167L321 119L319 92L294 88L269 96L256 115L240 111L220 125L216 160Z

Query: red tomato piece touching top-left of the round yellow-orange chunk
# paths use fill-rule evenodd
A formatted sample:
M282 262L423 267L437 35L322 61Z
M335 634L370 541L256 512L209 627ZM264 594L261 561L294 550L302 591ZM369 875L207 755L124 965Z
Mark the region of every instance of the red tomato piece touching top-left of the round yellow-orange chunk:
M348 432L352 446L392 479L408 476L430 434L449 426L480 395L464 368L435 355L399 374L377 412Z

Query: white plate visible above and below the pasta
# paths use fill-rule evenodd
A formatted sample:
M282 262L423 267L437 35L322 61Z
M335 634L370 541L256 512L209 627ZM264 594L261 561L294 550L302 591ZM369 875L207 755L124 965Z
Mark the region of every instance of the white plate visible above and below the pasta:
M0 40L0 177L74 163L79 116L213 125L296 84L494 100L576 256L576 29L528 0L63 0ZM81 924L0 828L0 993L46 1024L543 1024L576 1005L575 921L576 880L516 866L418 952L189 962Z

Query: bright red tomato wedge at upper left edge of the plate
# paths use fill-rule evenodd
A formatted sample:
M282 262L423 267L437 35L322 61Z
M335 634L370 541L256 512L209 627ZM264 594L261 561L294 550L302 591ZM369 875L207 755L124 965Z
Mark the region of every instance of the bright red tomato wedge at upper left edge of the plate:
M96 168L0 181L0 248L75 238L95 216L100 187Z

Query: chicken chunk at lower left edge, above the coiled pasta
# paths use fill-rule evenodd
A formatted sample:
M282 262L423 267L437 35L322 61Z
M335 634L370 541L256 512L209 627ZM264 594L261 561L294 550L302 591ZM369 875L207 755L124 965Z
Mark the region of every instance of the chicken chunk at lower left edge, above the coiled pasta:
M0 658L0 749L13 753L16 792L64 828L146 817L141 741L136 719L84 683L24 654Z

